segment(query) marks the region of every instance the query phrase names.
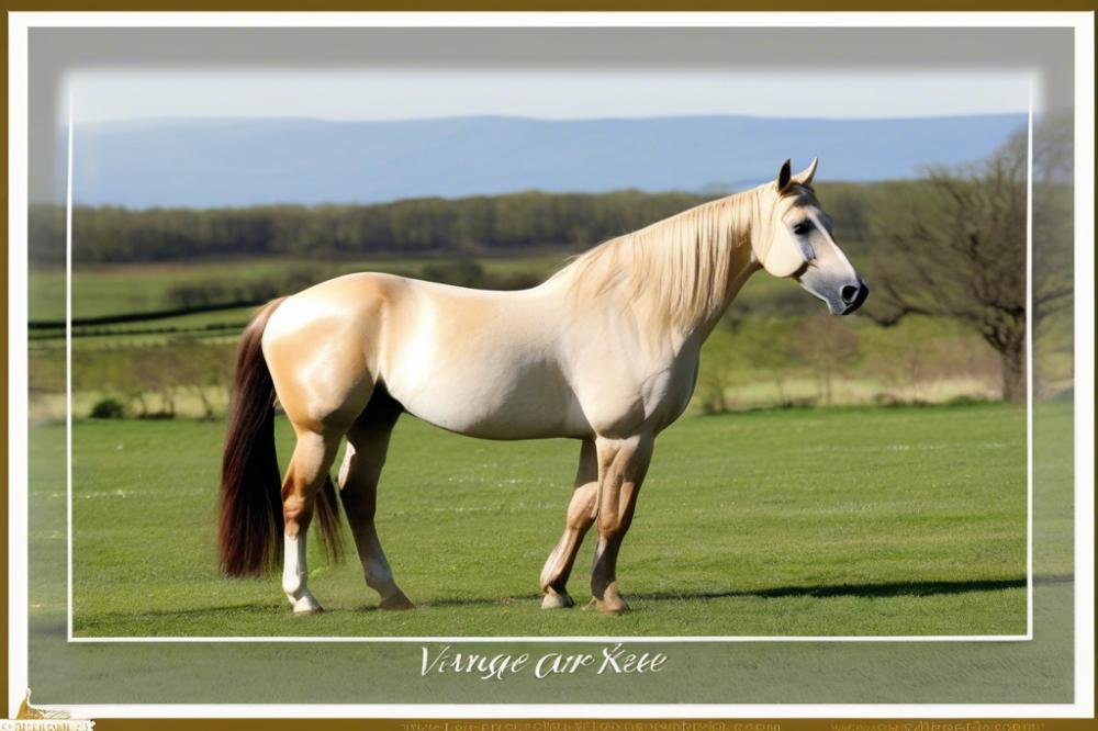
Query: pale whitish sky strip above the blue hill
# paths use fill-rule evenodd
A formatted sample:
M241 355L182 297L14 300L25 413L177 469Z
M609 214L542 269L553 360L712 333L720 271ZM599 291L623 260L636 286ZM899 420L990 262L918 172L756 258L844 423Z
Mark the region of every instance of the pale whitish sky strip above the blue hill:
M1029 78L1018 71L971 69L103 69L71 77L69 95L80 123L280 116L367 121L479 114L870 119L1023 113L1029 105ZM66 109L59 113L67 117Z

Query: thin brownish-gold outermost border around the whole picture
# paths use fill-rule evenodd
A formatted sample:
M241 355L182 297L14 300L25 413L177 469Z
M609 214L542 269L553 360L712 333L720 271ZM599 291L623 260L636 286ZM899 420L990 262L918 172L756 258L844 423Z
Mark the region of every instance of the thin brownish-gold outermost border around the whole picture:
M3 34L3 58L9 52L9 16L10 12L26 11L276 11L288 12L301 10L300 5L289 0L161 0L152 3L148 0L4 0L3 15L0 18L0 32ZM787 0L782 7L775 8L773 2L763 0L739 0L728 2L721 0L684 0L680 3L660 2L658 0L374 0L368 3L354 0L318 0L309 8L310 11L1085 11L1098 13L1098 0L900 0L882 8L871 0ZM4 170L10 165L8 149L9 121L9 85L8 74L0 79L0 95L2 95L3 121L0 123L0 161ZM11 212L8 207L8 196L0 196L0 211L3 216L3 229L0 241L3 244L0 273L2 273L3 317L0 319L0 378L7 384L8 362L8 222ZM1085 212L1076 212L1076 215ZM1079 374L1077 374L1078 376ZM1091 374L1094 376L1094 374ZM10 401L7 385L0 392L0 406L4 414L9 413ZM3 498L0 499L0 525L8 525L8 466L9 445L4 439L0 446L0 470L2 470ZM1091 516L1095 517L1095 516ZM8 637L8 542L0 546L0 625L3 628L3 646L9 649ZM2 708L9 707L8 697L8 657L4 653L0 664L0 702ZM692 718L676 719L569 719L568 731L742 731L750 724L769 724L770 729L777 727L781 731L837 731L837 724L859 724L869 729L879 727L872 718L811 718L811 719L765 719L765 718ZM56 722L56 721L55 721ZM1063 718L888 718L882 721L888 729L896 731L1083 731L1098 728L1098 718L1063 719ZM60 723L64 723L61 721ZM404 719L227 719L227 718L180 718L180 719L102 719L97 720L97 728L108 731L146 729L152 724L157 729L188 731L192 729L300 729L302 724L323 724L327 729L379 729L381 731L410 731L412 724L424 731L449 731L450 727L461 724L464 728L477 728L482 731L534 731L536 724L544 720L520 718L404 718ZM738 728L739 727L739 728ZM757 729L760 727L755 727Z

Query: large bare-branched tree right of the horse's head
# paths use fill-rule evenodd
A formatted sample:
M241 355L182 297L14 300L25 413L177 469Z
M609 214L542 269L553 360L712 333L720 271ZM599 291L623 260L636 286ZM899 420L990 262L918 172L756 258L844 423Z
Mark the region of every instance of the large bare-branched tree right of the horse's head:
M1063 237L1071 215L1051 205L1063 199L1069 149L1058 117L1035 131L1034 251L1063 248L1052 239ZM964 323L998 355L1002 398L1013 403L1026 400L1027 157L1021 131L982 162L932 168L926 183L892 185L871 218L879 248L865 310L885 326L910 314ZM1049 256L1034 272L1037 330L1069 304L1072 281L1071 268Z

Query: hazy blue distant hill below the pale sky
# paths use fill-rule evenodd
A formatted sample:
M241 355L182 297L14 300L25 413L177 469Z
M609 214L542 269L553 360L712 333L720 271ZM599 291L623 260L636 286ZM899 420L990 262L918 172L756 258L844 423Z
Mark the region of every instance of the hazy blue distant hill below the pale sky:
M89 205L370 203L539 189L724 192L820 157L824 180L911 178L979 159L1024 115L901 120L747 116L397 122L301 119L86 124L74 198Z

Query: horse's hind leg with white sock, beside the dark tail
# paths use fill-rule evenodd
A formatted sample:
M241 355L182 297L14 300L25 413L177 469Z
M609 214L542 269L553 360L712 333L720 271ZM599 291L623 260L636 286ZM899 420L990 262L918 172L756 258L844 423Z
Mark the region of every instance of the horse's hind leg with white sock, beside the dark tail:
M282 482L282 515L285 518L285 555L282 564L282 591L294 614L321 610L309 592L309 564L305 560L309 524L313 519L316 493L324 485L335 461L341 434L298 430L290 468Z

